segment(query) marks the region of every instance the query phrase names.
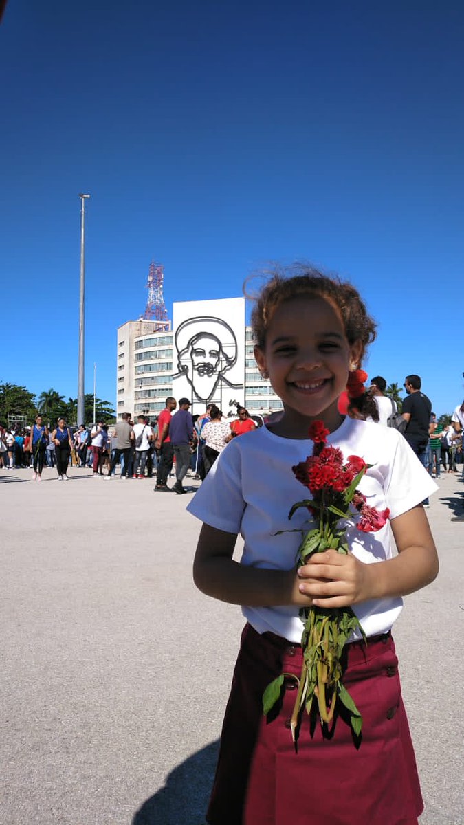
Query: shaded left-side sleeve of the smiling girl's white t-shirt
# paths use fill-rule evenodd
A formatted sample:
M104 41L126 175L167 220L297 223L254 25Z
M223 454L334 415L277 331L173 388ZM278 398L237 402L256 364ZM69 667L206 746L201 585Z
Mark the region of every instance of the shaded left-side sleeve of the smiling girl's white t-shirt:
M241 464L240 450L232 442L211 467L187 511L218 530L239 533L245 508Z

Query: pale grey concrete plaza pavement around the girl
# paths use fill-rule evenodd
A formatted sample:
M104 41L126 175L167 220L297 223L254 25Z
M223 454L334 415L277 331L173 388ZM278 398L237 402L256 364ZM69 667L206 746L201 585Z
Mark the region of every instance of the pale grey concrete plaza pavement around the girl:
M0 470L0 823L204 825L240 610L192 584L190 494L69 475ZM421 825L464 823L462 502L443 476L441 572L395 626Z

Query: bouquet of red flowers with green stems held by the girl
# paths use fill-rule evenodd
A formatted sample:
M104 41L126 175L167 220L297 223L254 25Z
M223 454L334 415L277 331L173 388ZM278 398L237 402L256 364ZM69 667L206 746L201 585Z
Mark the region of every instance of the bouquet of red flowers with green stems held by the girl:
M366 497L357 490L357 485L370 464L358 455L349 455L343 464L343 454L337 447L326 446L329 430L324 422L315 421L310 426L309 437L314 441L313 455L308 456L296 467L292 467L296 479L310 490L311 498L297 502L291 507L289 519L298 507L306 507L317 519L318 526L305 533L297 555L297 565L306 564L310 556L334 549L348 554L346 526L339 521L353 521L360 516L357 529L364 532L380 530L386 524L389 510L379 512L369 507ZM301 637L303 667L291 716L291 736L296 742L296 733L305 707L310 714L314 700L319 709L320 721L329 726L334 719L334 711L339 700L348 711L353 733L358 737L362 728L362 716L353 699L343 686L342 652L353 630L358 630L365 639L362 627L351 607L327 609L319 606L301 610L301 620L305 627ZM285 674L277 676L263 694L263 712L268 714L280 697ZM328 730L326 727L325 730Z

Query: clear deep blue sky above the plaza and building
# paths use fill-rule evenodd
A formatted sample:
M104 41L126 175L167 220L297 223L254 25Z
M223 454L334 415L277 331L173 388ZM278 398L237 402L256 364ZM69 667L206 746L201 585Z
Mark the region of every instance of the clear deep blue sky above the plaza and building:
M164 297L241 294L307 259L362 291L371 375L464 396L464 6L9 0L2 81L0 381L114 403L116 328Z

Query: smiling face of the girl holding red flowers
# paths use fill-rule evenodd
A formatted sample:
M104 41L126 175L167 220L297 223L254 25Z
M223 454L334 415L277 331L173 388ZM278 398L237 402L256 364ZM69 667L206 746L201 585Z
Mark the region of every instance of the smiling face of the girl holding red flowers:
M339 395L361 352L361 342L348 344L343 320L329 301L300 296L282 302L269 323L264 349L254 351L259 368L268 372L272 389L282 398L278 434L307 438L316 418L330 431L339 427Z

